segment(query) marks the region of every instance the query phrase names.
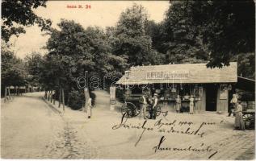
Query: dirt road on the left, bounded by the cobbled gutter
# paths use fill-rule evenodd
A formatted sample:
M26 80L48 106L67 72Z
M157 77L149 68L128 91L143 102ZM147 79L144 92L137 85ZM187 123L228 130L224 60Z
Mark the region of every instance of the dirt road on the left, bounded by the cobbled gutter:
M69 126L69 120L52 110L41 96L42 93L27 93L2 104L2 158L94 158L87 139L78 140L78 131Z

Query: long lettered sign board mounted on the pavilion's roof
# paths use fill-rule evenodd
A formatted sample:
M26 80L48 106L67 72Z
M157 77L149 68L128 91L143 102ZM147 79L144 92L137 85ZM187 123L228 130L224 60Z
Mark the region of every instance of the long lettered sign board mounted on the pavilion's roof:
M147 72L146 79L183 80L188 79L189 71L151 71Z

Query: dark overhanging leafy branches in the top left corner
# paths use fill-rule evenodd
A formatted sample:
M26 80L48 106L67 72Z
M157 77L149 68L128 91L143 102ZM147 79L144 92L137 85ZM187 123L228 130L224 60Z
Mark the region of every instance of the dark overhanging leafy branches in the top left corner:
M49 30L51 21L37 16L33 9L46 6L47 0L2 0L2 39L9 41L11 35L18 36L25 33L22 26L31 26L35 23L41 30Z

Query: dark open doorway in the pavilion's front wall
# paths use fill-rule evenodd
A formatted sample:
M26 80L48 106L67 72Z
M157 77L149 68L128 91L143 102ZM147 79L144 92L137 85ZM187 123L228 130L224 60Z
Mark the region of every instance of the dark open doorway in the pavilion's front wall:
M217 105L217 85L206 85L206 110L216 111Z

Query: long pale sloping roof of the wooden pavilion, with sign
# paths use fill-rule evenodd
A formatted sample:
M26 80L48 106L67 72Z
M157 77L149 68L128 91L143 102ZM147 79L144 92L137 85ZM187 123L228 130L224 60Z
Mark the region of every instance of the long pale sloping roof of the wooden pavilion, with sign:
M128 79L122 76L116 84L141 85L159 83L234 83L237 62L223 68L207 68L206 64L166 64L132 67Z

